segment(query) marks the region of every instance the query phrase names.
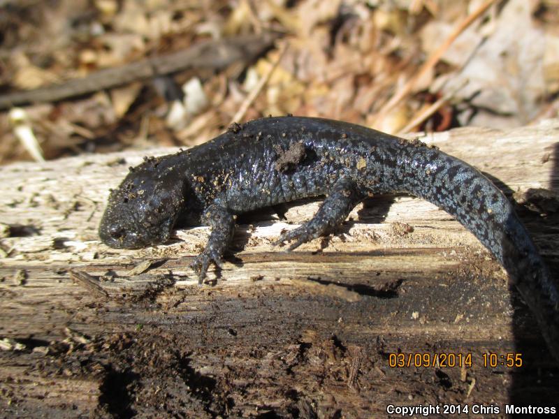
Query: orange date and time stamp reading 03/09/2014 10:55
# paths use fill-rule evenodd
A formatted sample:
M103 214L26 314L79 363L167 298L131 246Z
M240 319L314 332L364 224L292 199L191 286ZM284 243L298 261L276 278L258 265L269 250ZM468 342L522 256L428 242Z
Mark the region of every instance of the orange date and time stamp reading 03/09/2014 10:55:
M483 353L481 354L481 364L484 367L522 367L523 360L521 353ZM471 353L389 353L389 367L472 367Z

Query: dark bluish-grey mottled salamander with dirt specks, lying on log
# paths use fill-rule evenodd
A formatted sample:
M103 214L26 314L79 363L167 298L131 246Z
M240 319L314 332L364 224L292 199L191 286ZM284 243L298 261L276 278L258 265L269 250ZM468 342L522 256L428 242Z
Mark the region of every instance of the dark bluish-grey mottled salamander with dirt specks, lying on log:
M484 175L440 150L363 126L310 117L233 124L205 144L145 159L110 193L99 235L110 247L164 243L177 223L209 225L191 267L222 266L237 214L326 195L317 214L279 237L293 250L338 226L372 193L402 191L454 216L493 253L559 360L559 293L527 230Z

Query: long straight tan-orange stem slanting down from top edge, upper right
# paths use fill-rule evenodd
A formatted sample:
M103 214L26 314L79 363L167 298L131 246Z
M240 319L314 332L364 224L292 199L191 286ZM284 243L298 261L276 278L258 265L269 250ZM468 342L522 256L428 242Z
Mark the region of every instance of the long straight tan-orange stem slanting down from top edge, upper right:
M456 40L456 38L458 38L458 36L463 31L465 31L465 29L469 27L470 24L472 24L475 20L477 20L477 18L480 15L482 15L489 8L489 6L495 3L495 1L496 0L484 1L484 3L482 3L481 6L479 6L476 10L474 10L472 14L467 15L467 17L465 17L464 20L462 20L462 22L456 25L456 27L449 35L449 37L444 41L444 43L442 43L442 45L440 45L440 47L437 48L435 52L433 52L433 54L430 55L430 57L427 59L427 61L425 61L423 66L421 66L419 71L417 71L417 73L415 73L414 76L411 79L409 79L407 83L404 84L402 88L400 88L400 90L398 90L396 94L392 96L392 98L388 102L384 104L381 110L379 110L379 112L377 113L377 117L375 117L375 122L378 121L379 119L382 119L382 117L384 117L386 113L388 113L390 110L395 108L395 106L398 105L398 103L400 103L400 101L402 101L402 99L405 98L412 91L417 80L423 77L423 75L427 71L433 68L435 64L437 64L437 62L439 62L444 52L446 52L449 49L449 47L452 45L454 40Z

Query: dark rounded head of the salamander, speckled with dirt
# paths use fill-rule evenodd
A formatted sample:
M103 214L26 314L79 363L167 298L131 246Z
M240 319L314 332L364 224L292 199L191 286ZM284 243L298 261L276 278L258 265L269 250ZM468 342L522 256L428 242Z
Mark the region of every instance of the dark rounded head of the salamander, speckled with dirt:
M183 205L182 182L177 174L147 161L111 191L99 236L107 246L117 249L164 243Z

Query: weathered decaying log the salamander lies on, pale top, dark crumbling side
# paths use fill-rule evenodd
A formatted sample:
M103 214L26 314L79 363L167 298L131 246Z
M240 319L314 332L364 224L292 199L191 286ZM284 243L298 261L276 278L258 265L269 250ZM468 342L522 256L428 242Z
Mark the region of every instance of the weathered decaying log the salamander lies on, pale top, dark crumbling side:
M559 120L421 140L507 191L559 189ZM555 404L554 367L507 276L460 224L409 196L359 205L343 228L293 253L286 220L240 219L224 270L187 267L209 229L109 249L96 228L108 189L144 154L0 168L0 409L5 416L363 418L386 405ZM551 267L554 214L523 211ZM17 346L19 344L20 346ZM472 353L472 367L389 367L390 353ZM524 366L482 355L523 353ZM441 415L442 417L443 415ZM493 415L490 415L493 416Z

